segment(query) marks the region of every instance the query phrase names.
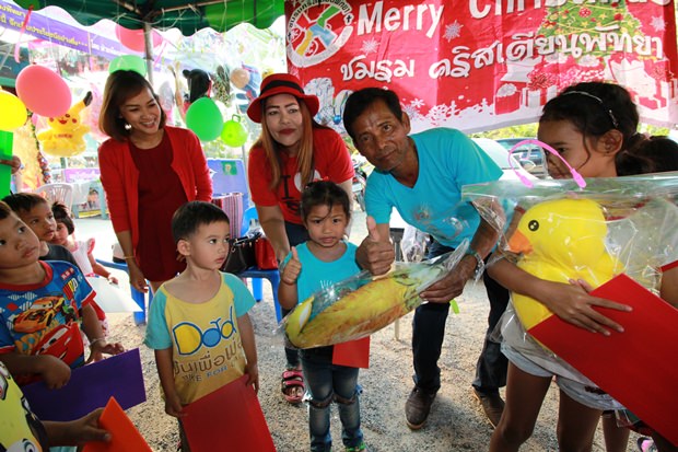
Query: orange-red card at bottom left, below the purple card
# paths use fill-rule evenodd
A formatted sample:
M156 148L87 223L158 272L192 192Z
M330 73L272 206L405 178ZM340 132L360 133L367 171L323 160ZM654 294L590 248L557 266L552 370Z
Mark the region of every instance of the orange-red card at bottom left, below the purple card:
M152 452L141 433L114 397L108 399L98 425L110 433L109 442L87 442L82 452Z

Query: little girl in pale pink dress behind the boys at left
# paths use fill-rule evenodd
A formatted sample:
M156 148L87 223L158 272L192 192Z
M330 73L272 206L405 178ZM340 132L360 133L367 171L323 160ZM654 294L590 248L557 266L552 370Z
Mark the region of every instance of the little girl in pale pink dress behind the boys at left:
M66 205L56 201L51 205L51 212L57 222L57 229L50 243L52 245L61 245L71 252L78 266L85 276L98 275L108 279L114 285L118 283L118 279L110 274L92 255L94 250L94 237L87 240L75 239L75 223L71 218L70 210Z

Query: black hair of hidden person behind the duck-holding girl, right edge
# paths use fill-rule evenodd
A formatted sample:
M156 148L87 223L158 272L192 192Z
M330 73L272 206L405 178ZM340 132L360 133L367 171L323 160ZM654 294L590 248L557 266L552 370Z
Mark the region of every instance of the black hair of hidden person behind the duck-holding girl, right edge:
M616 161L620 176L678 171L678 143L668 137L648 137L620 154Z

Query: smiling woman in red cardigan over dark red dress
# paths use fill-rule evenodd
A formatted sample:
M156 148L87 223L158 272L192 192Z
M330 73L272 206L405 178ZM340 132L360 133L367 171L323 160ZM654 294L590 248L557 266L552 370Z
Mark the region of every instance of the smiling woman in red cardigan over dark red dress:
M141 74L113 72L106 81L98 149L102 185L131 285L157 288L185 267L177 260L171 221L191 200L209 201L212 182L196 135L166 126L157 95Z

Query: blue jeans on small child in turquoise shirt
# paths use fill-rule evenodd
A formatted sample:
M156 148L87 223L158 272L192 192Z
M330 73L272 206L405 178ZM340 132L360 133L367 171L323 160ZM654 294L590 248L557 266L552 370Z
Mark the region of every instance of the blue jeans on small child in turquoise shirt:
M341 440L347 448L363 442L360 429L360 386L358 369L332 364L332 347L301 350L308 402L308 430L312 451L330 451L329 407L337 402L341 419Z

